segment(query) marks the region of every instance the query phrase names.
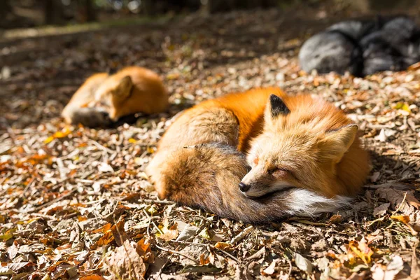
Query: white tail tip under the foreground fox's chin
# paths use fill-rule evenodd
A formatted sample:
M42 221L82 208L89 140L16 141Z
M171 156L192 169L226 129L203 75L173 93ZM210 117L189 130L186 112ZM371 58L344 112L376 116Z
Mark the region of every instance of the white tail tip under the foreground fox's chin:
M334 198L327 198L303 189L291 190L287 201L288 214L309 217L351 205L351 197L337 195Z

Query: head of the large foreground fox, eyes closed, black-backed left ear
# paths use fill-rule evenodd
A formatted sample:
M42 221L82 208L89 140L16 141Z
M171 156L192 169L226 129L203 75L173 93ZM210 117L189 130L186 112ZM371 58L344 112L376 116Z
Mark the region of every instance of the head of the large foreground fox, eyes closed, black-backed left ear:
M314 102L308 97L310 100ZM321 101L314 104L323 105ZM239 183L244 195L261 197L291 188L310 190L325 197L339 194L337 164L353 144L357 125L325 130L328 124L322 116L304 112L298 106L290 110L274 94L269 97L264 121L262 134L255 137L248 152L247 161L252 169Z

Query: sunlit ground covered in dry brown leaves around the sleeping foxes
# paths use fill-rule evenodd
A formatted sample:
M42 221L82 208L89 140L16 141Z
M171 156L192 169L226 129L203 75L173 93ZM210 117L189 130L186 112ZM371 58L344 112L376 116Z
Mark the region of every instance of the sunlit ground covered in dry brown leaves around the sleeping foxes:
M0 279L418 279L420 66L303 73L302 40L349 15L302 10L1 41ZM84 78L130 64L162 75L169 113L62 123ZM352 209L246 225L158 200L144 168L172 116L269 85L321 95L358 123L372 172Z

